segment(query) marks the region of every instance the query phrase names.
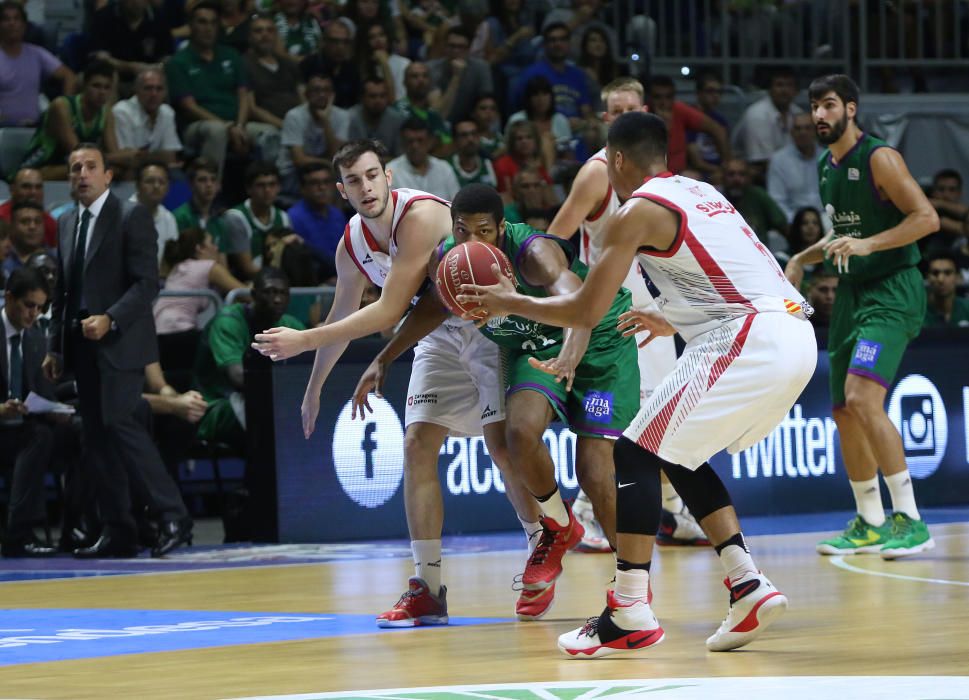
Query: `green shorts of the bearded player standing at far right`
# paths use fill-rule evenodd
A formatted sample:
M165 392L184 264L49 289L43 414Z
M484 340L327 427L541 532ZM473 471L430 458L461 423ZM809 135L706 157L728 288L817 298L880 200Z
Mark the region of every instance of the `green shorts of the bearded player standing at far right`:
M914 267L871 282L842 279L838 283L828 331L835 407L845 403L848 374L867 377L886 389L891 386L924 315L925 286Z

